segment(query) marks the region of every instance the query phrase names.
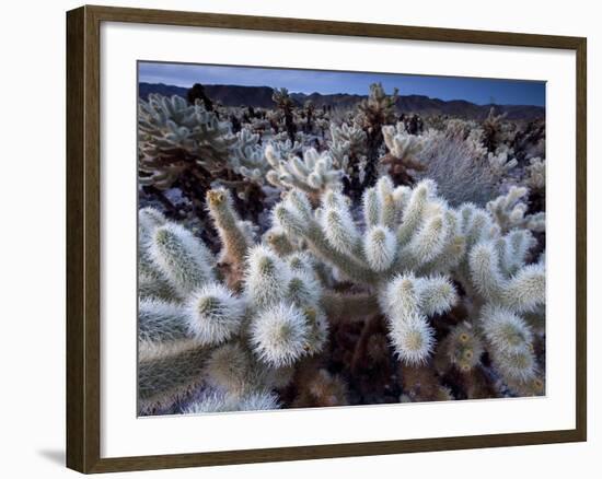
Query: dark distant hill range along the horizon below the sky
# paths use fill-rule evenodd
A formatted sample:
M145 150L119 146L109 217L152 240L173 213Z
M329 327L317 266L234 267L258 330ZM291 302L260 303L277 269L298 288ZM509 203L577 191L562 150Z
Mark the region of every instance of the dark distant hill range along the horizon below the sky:
M186 97L188 89L166 85L163 83L139 83L138 94L147 100L150 93L162 95L180 95ZM205 92L211 100L220 102L224 106L254 106L262 108L274 107L271 94L274 89L269 86L241 86L241 85L205 85ZM336 93L323 95L321 93L291 93L291 97L298 105L303 105L308 100L321 108L323 105L347 108L361 102L367 95L350 95ZM443 101L430 98L424 95L401 95L397 98L397 108L404 113L417 113L420 115L443 114L466 119L484 119L491 106L496 113L506 113L508 119L532 120L545 117L545 108L534 105L476 105L464 100Z

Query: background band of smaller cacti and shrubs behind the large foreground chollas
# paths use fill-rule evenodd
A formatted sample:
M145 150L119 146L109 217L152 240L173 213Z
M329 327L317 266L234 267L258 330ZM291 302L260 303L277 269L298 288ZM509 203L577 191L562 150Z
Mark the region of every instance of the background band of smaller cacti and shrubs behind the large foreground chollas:
M409 133L403 122L397 124L396 94L386 95L378 84L364 102L347 112L298 107L289 96L282 96L285 109L292 108L293 119L304 115L293 121L294 133L282 118L281 102L276 109L250 114L248 108L207 110L200 101L188 104L178 96L151 94L141 100L140 184L159 189L176 185L195 201L215 184L256 200L254 194L267 182L283 190L301 188L315 203L343 178L358 189L387 174L395 184L428 177L452 205L484 206L500 192L502 179L518 170L519 156L535 162L525 179L530 189L540 188L544 178L540 166L545 168L545 160L524 149L531 137L519 141L522 130L493 110L482 122L431 119L425 124L430 129ZM269 119L273 115L277 118ZM235 129L228 117L236 118ZM317 128L319 120L329 127ZM202 187L192 188L195 183ZM354 200L361 195L352 192Z

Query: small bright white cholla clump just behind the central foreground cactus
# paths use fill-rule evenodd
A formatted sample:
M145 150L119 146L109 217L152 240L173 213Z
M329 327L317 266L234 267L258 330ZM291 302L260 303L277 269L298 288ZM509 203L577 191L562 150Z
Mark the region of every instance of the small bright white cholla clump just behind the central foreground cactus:
M303 159L290 155L283 159L276 149L269 144L265 155L271 165L266 178L274 186L281 189L299 188L306 192L312 201L317 202L320 196L326 189L339 189L343 171L333 164L329 153L317 153L313 148L305 150Z

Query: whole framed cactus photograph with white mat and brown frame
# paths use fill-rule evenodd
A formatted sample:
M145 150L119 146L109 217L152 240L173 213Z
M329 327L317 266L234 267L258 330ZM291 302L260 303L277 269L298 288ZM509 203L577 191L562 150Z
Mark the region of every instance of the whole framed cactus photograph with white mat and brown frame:
M67 465L586 441L586 38L67 14Z

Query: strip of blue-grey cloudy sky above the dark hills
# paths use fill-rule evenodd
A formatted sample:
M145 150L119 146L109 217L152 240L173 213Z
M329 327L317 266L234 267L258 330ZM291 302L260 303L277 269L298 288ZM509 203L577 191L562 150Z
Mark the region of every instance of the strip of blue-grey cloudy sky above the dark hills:
M461 77L425 77L278 68L221 67L190 63L139 62L139 81L189 87L194 83L287 87L300 93L368 93L381 82L386 92L466 100L479 105L545 105L545 82Z

